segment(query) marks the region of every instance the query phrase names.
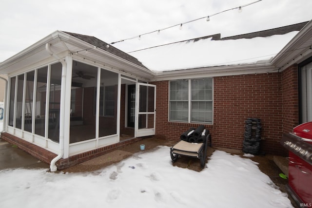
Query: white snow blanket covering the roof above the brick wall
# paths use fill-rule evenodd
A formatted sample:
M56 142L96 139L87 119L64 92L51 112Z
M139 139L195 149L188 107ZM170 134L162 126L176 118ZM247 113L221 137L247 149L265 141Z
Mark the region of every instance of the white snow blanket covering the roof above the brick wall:
M130 52L153 71L250 64L274 57L296 34L268 37L181 41Z

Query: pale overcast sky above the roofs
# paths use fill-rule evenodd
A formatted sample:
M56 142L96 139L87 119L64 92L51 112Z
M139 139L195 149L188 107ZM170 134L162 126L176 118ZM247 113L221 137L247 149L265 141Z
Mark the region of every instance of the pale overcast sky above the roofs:
M135 37L256 0L2 0L0 62L56 30L105 42ZM114 44L124 52L221 33L221 37L312 19L312 0L262 0L179 27Z

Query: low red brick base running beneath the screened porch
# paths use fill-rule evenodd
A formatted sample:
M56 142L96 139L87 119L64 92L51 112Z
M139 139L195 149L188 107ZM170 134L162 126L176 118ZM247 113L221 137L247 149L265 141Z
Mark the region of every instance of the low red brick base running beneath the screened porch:
M18 148L20 148L21 150L26 151L27 153L33 155L34 157L48 164L50 164L52 159L57 156L57 154L51 151L45 150L35 144L20 139L19 137L16 137L10 133L5 132L1 133L1 139L9 142L10 144L18 146ZM119 142L117 144L101 147L96 150L76 154L65 159L59 159L56 165L58 167L58 170L63 170L71 166L77 165L79 163L91 160L95 157L101 156L108 152L115 151L124 146L133 144L141 139L142 138L134 138L127 141Z

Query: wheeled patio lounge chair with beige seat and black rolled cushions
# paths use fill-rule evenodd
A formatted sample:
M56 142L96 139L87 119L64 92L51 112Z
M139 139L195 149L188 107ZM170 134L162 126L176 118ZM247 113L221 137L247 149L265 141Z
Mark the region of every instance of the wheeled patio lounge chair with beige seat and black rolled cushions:
M203 125L197 129L191 128L180 136L180 141L170 148L172 162L176 162L179 155L200 159L203 168L206 164L207 146L211 147L211 135Z

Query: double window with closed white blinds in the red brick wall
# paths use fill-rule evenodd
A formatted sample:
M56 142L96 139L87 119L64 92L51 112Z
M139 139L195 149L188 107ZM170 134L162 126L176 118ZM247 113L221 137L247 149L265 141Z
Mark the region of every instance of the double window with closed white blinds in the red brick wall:
M172 80L169 84L169 120L213 122L213 79Z

